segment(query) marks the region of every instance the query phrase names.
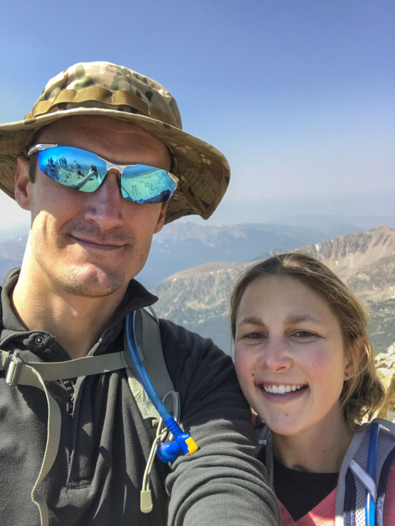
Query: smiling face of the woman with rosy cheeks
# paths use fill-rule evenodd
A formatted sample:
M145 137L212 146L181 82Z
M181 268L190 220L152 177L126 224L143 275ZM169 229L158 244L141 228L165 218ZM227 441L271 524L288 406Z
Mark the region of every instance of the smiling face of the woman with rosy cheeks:
M296 435L342 418L351 365L327 303L292 277L252 281L236 318L235 363L245 397L275 433Z

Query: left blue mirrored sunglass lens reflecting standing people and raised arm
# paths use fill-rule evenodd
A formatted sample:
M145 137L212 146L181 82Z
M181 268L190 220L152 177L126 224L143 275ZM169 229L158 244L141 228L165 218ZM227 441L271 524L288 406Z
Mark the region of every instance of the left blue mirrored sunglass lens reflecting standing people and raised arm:
M56 146L38 153L43 174L69 188L94 192L107 173L106 163L90 151Z

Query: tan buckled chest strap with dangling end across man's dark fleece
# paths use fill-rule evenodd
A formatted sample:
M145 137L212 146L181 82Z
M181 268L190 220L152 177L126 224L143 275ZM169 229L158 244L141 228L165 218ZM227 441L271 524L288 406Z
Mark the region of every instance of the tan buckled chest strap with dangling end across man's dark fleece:
M19 353L18 353L19 354ZM66 362L23 362L19 357L10 360L10 353L0 350L0 370L6 369L6 381L11 386L18 384L37 387L45 393L48 405L47 442L43 462L32 490L32 501L40 512L41 526L48 526L47 503L38 493L39 484L52 468L59 448L62 417L55 399L48 392L45 380L64 380L78 376L96 375L128 367L126 352L108 355L87 356Z

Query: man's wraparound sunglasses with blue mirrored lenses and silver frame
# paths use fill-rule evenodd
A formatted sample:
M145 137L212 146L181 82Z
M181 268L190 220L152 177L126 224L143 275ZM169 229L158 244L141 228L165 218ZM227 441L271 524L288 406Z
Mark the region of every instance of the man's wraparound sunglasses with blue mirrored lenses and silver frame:
M122 196L133 203L164 203L173 195L178 179L154 166L117 165L92 151L57 144L36 144L27 152L38 151L38 166L43 174L68 188L94 192L103 185L109 170L119 171Z

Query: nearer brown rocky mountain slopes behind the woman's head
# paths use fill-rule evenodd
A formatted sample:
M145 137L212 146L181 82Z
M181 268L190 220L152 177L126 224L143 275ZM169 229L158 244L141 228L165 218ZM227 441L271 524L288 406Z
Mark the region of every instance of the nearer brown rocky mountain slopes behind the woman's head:
M255 249L262 253L259 246ZM395 341L395 230L381 226L298 250L328 265L367 305L374 352L386 352ZM158 316L212 338L231 353L229 291L249 265L216 262L176 272L151 289L159 297L155 305Z

